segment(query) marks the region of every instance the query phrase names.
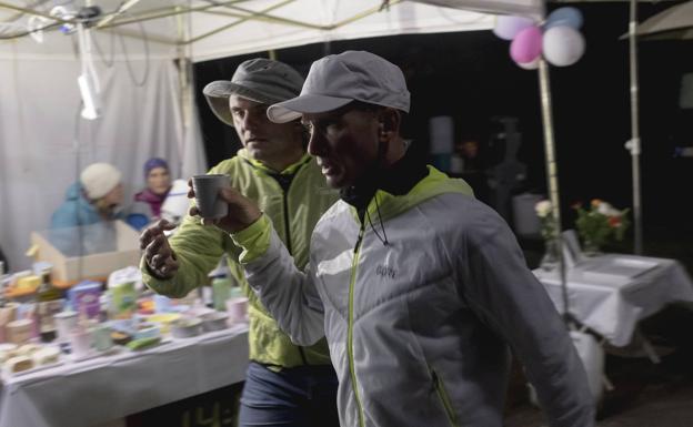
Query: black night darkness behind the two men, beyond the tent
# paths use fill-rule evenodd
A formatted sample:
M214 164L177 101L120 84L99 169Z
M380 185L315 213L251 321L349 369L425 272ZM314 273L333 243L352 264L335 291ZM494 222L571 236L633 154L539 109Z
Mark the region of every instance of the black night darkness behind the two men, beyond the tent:
M639 19L674 3L642 4ZM563 217L571 226L570 205L603 199L619 209L632 205L627 3L570 4L584 14L584 57L568 68L551 67L553 114ZM693 72L693 41L639 43L642 201L645 250L649 242L671 237L683 246L693 235L693 157L675 156L677 146L693 145L693 110L679 106L681 78ZM522 133L519 157L528 180L518 192L545 193L543 131L538 73L516 67L509 42L491 31L396 35L337 41L275 51L275 58L304 75L324 54L368 50L400 65L412 93L408 118L414 149L428 155L428 121L454 118L455 141L476 138L490 162L489 141L500 130L494 116L515 116ZM197 63L195 93L210 166L240 148L232 128L209 110L202 88L229 80L235 67L268 52ZM629 238L632 238L629 236ZM682 243L683 242L683 243ZM669 254L666 254L669 255Z

